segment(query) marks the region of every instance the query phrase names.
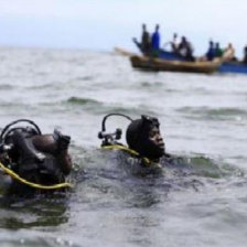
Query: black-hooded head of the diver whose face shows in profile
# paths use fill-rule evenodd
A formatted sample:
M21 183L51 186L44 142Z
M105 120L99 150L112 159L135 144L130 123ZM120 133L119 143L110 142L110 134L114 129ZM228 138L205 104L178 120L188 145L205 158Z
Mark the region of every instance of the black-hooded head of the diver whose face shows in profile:
M164 142L157 118L141 116L133 120L126 131L127 143L142 157L159 160L164 154Z

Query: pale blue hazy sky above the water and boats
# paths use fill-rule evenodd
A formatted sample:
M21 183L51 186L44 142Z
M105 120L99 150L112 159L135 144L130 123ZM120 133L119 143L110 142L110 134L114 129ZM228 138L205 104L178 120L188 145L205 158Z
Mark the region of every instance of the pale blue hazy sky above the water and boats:
M141 24L161 29L161 44L173 32L205 53L212 39L234 44L241 56L247 44L246 0L0 0L0 45L137 51Z

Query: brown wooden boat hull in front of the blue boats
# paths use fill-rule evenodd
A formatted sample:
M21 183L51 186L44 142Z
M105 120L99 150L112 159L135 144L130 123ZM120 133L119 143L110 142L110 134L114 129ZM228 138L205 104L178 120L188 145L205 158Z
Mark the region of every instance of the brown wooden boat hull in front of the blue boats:
M146 71L164 71L164 72L187 72L211 74L218 69L219 60L213 62L185 62L169 61L163 58L153 58L147 56L130 56L132 67Z

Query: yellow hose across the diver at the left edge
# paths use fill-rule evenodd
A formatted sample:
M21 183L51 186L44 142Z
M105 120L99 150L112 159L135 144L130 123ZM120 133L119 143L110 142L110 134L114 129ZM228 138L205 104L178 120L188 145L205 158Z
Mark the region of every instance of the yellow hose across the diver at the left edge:
M62 187L73 187L73 184L71 183L58 183L58 184L53 184L53 185L42 185L42 184L37 184L37 183L33 183L30 182L28 180L22 179L20 175L18 175L15 172L13 172L12 170L6 168L1 162L0 162L0 168L8 174L10 175L12 179L18 180L21 183L24 183L31 187L35 187L35 189L42 189L42 190L56 190L56 189L62 189Z

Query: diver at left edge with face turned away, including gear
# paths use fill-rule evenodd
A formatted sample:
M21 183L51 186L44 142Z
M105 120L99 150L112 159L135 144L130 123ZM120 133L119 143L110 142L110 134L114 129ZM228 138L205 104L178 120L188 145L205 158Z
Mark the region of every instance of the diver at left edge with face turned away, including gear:
M28 127L13 127L28 122ZM7 195L33 195L68 187L65 178L72 170L68 154L71 137L58 130L42 135L31 120L20 119L3 128L0 136L1 170L11 176Z

